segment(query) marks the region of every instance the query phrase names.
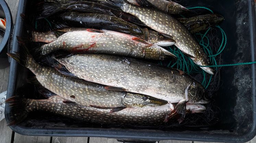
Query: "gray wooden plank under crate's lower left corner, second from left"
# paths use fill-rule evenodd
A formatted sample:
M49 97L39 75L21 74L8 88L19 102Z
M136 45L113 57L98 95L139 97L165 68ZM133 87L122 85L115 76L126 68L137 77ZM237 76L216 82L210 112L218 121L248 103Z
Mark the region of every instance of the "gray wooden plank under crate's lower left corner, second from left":
M50 137L25 136L15 133L13 143L50 143Z

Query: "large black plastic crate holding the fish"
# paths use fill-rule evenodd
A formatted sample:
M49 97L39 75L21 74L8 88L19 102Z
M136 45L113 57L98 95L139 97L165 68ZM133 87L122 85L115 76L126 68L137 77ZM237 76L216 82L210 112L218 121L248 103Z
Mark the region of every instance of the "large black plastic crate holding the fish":
M20 0L16 18L12 51L19 52L16 36L25 33L24 22L19 17L27 13L29 0ZM222 55L223 64L255 61L255 11L253 0L182 0L185 6L206 6L225 17L221 27L228 43ZM11 60L7 97L26 84L31 72ZM32 88L33 89L33 88ZM33 91L31 91L33 93ZM17 133L36 136L106 137L141 140L189 140L207 142L246 142L256 132L255 65L225 67L221 69L221 86L214 97L222 116L216 125L197 128L127 129L81 124L53 119L41 114L28 117L17 126L10 126ZM11 112L5 108L6 120Z

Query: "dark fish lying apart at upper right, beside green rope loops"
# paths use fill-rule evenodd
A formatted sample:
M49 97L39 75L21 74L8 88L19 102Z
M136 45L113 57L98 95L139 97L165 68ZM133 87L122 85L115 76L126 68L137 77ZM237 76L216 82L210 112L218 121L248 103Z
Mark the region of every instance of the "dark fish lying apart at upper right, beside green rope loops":
M204 14L190 18L178 18L191 33L200 32L221 23L224 17L219 14Z

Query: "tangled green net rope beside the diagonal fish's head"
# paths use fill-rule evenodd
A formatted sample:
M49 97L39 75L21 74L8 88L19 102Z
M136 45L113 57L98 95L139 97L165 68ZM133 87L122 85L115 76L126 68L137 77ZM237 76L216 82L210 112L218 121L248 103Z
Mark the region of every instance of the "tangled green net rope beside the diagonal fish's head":
M188 8L188 9L206 9L209 10L211 13L213 13L212 10L205 8L205 7L193 7L193 8ZM214 53L213 48L210 46L210 40L207 36L207 34L209 33L210 30L212 30L212 28L216 28L220 31L221 36L222 36L222 40L221 40L221 44L218 48L218 51L216 53ZM211 65L210 67L214 67L216 69L216 71L218 70L218 67L222 67L225 65L217 65L217 60L216 57L219 56L223 50L226 47L226 43L227 43L227 37L226 37L226 33L225 31L219 26L214 26L214 27L210 27L208 28L204 33L196 33L196 40L199 42L199 44L202 46L203 50L205 51L205 53L207 53L207 55L209 56ZM170 68L176 68L178 70L182 70L184 72L186 72L187 74L201 74L203 79L201 81L201 84L207 89L212 81L213 75L210 75L209 78L207 78L208 73L206 73L205 71L203 71L198 65L196 65L193 60L191 60L189 57L187 57L181 50L179 50L176 46L169 46L167 48L167 50L171 53L173 53L175 56L177 56L177 59L175 60L171 60L168 64L167 67ZM162 65L162 62L160 62L160 64ZM203 66L201 66L203 67ZM209 66L207 66L209 67Z

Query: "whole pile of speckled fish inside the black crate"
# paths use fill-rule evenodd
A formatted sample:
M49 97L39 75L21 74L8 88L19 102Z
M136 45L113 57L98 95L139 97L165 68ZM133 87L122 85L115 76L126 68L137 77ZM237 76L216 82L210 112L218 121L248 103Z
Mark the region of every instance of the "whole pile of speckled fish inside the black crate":
M7 99L15 109L9 125L38 111L122 126L182 123L186 114L206 111L210 97L198 81L152 61L175 59L164 48L175 45L214 74L191 33L220 23L222 16L179 18L191 11L170 0L46 0L37 9L34 20L47 19L55 28L28 30L29 42L44 44L27 47L18 38L20 52L8 55L34 73L30 81L39 82L48 99ZM46 57L48 66L38 62Z

